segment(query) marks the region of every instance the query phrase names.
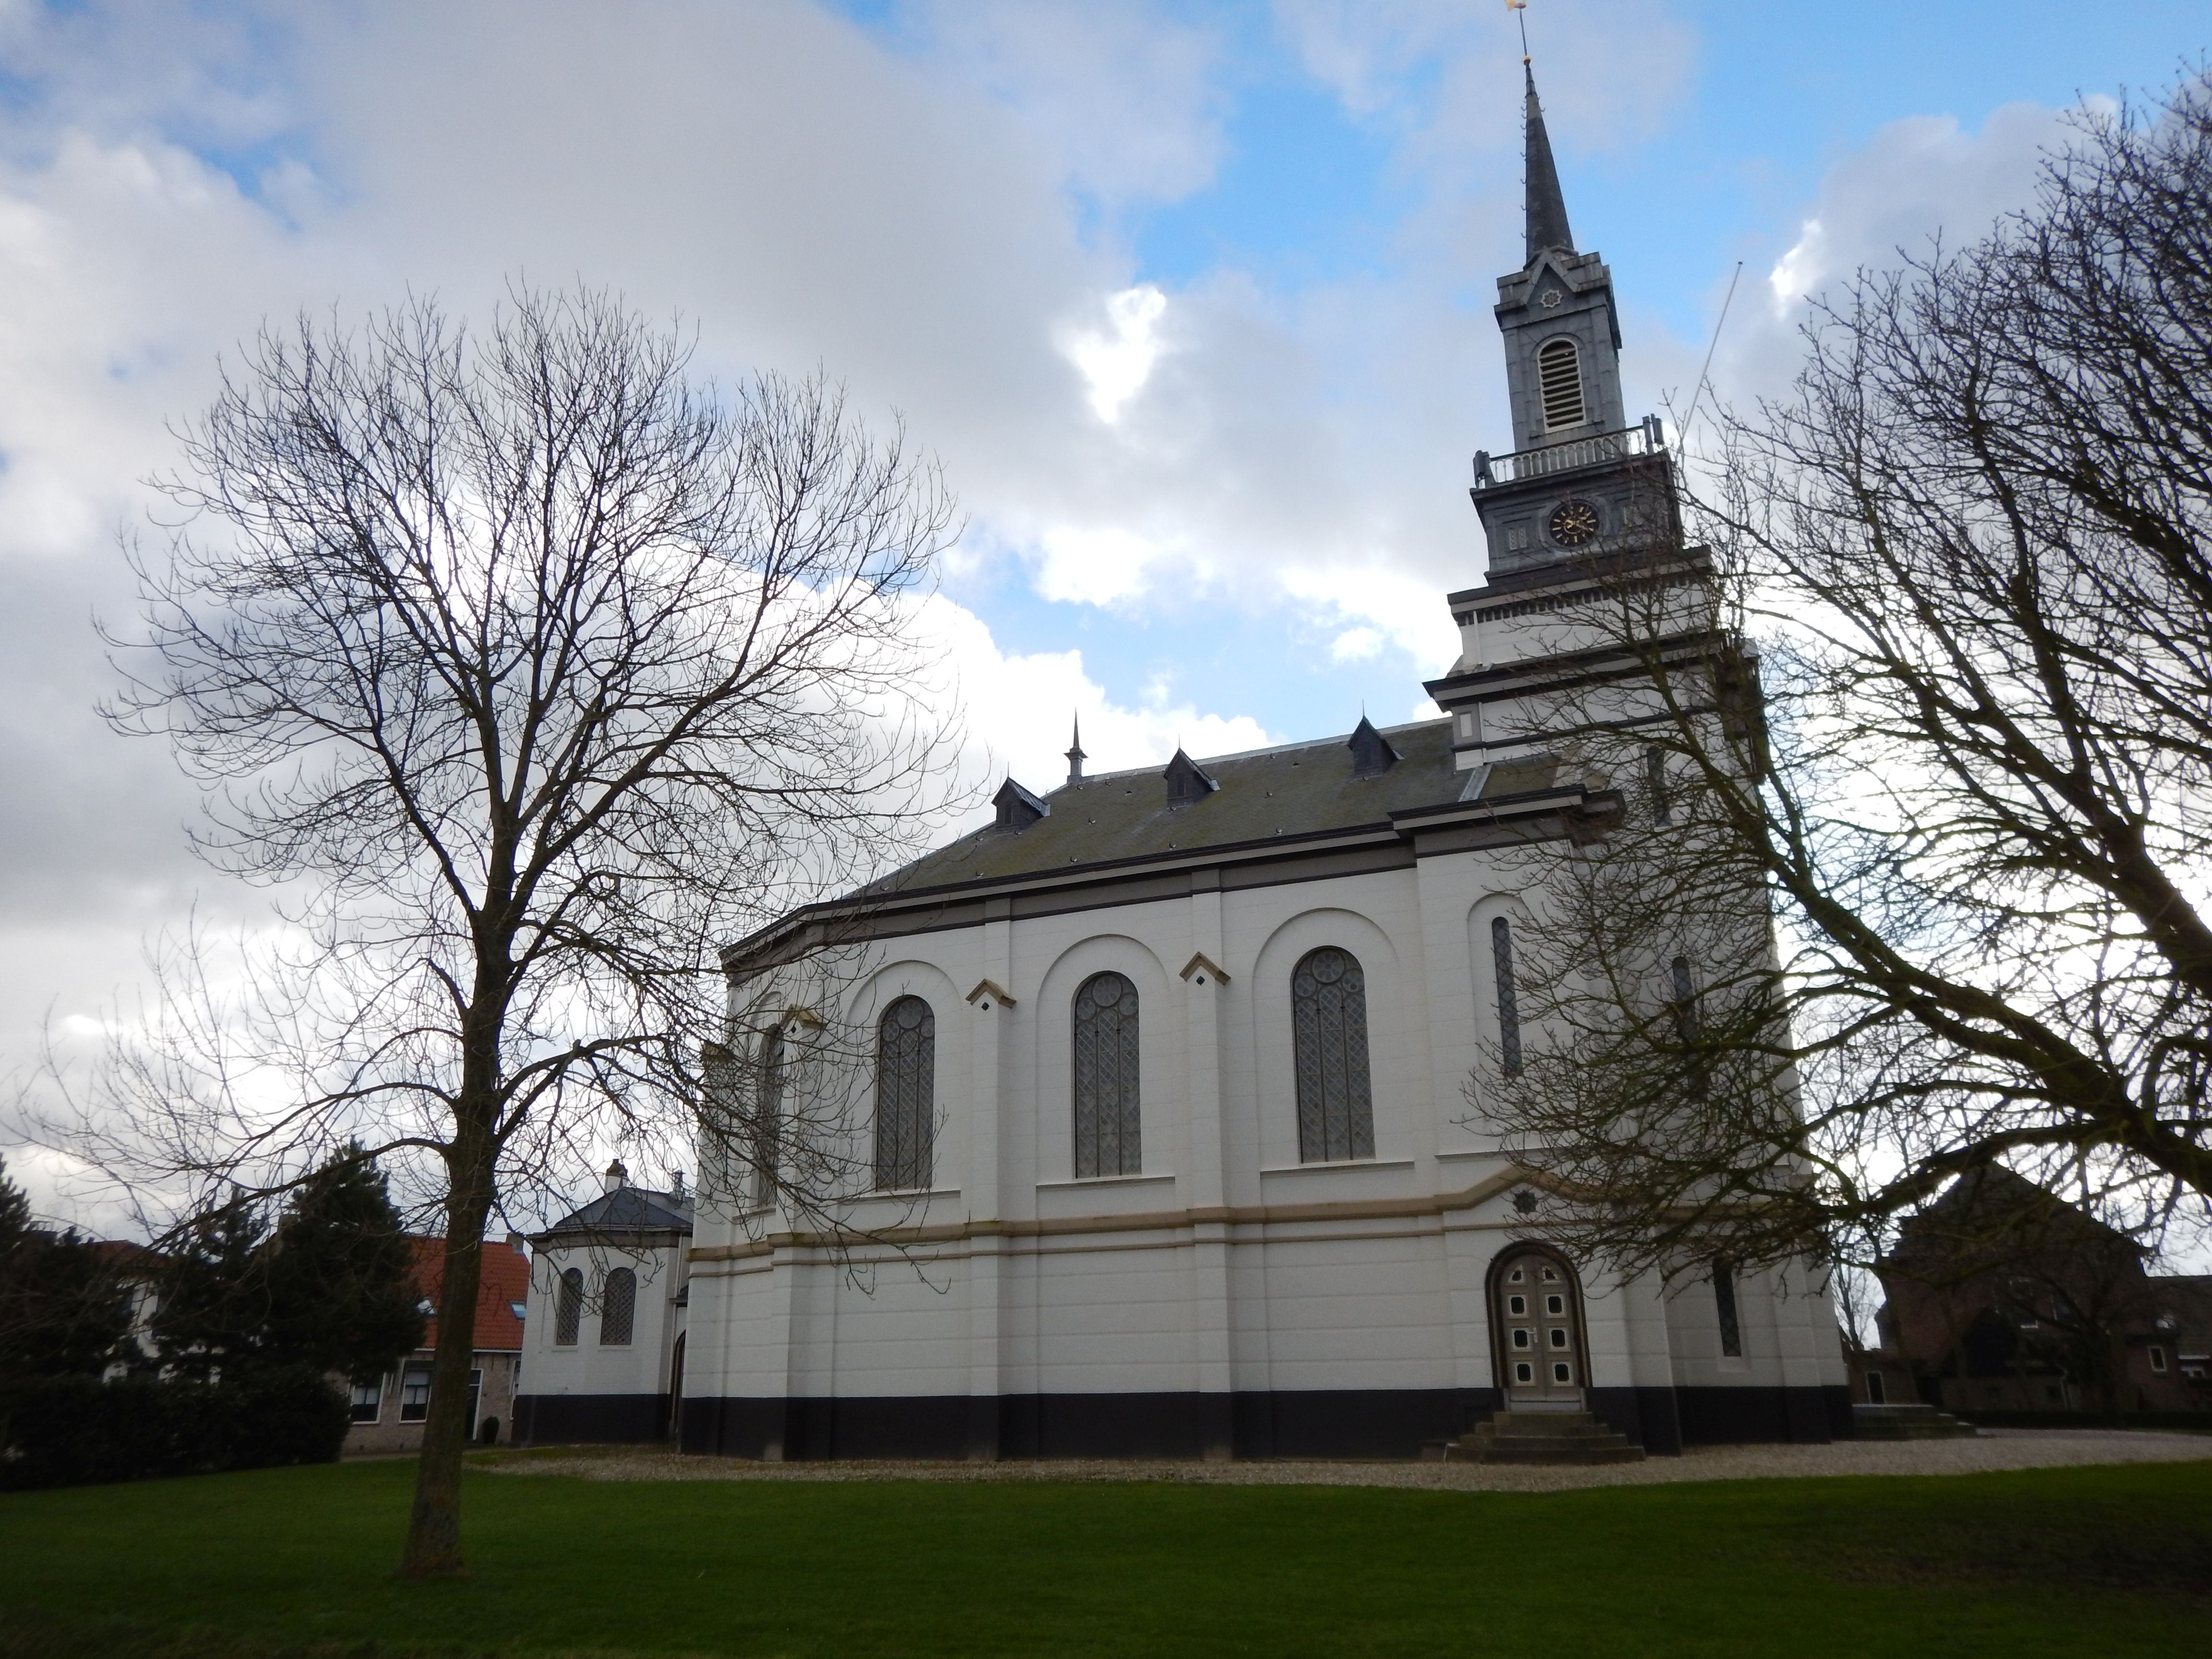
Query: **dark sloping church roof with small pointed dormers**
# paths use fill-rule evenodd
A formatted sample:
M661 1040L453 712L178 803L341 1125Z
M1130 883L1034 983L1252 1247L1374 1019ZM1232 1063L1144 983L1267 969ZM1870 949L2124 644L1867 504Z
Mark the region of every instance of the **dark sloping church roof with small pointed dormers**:
M1371 730L1371 728L1369 728ZM1020 830L978 830L889 876L876 891L914 891L973 880L1000 880L1079 865L1117 865L1152 856L1183 858L1208 847L1237 847L1332 830L1389 825L1391 814L1462 799L1469 774L1453 770L1451 721L1420 721L1383 732L1398 761L1360 776L1349 737L1248 750L1183 765L1212 781L1170 803L1161 768L1106 772L1053 790L1051 812ZM1175 770L1170 763L1168 770ZM1542 772L1542 776L1537 776ZM1493 768L1480 799L1544 790L1551 761Z

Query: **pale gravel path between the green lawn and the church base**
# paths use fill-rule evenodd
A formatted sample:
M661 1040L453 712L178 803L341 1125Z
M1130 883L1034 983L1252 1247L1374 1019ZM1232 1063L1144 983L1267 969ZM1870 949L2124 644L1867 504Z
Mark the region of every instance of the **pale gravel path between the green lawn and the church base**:
M2212 1438L2132 1429L1984 1429L1973 1440L1843 1440L1827 1447L1694 1447L1681 1458L1597 1469L1475 1462L743 1462L681 1453L588 1451L487 1460L502 1475L582 1480L1168 1480L1199 1486L1413 1486L1566 1491L1666 1480L1794 1475L1966 1475L2093 1462L2212 1462ZM2212 1473L2212 1471L2208 1471Z

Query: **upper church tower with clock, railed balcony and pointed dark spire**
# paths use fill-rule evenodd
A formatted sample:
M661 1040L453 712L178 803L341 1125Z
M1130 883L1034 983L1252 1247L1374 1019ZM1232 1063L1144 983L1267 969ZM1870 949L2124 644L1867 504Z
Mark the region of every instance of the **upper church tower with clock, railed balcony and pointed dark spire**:
M1482 520L1489 580L1451 595L1460 661L1427 686L1453 714L1462 770L1537 745L1498 708L1504 679L1526 690L1557 628L1533 626L1621 566L1674 560L1681 511L1659 420L1630 425L1621 398L1621 323L1613 272L1577 252L1535 71L1524 60L1526 175L1522 268L1498 279L1513 449L1475 453L1469 495ZM1484 719L1484 708L1491 717Z

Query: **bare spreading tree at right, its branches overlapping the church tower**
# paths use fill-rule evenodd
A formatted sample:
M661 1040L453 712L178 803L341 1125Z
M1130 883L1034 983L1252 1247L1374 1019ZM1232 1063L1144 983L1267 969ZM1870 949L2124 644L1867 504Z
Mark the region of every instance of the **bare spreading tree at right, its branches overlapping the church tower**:
M1871 1263L2004 1164L2212 1194L2212 84L1816 307L1692 546L1593 566L1482 1121L1635 1267Z

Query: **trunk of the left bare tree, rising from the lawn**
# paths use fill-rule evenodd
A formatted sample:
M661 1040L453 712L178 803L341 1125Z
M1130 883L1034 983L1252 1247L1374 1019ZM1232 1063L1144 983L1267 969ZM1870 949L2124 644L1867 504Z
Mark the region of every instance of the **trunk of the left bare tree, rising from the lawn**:
M460 1453L469 1444L469 1367L476 1358L476 1287L484 1267L484 1217L491 1214L491 1152L467 1130L456 1146L453 1190L445 1208L445 1279L438 1285L438 1347L431 1356L429 1420L416 1464L403 1579L458 1577Z

